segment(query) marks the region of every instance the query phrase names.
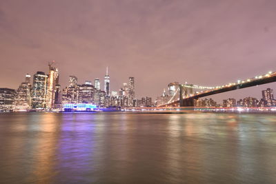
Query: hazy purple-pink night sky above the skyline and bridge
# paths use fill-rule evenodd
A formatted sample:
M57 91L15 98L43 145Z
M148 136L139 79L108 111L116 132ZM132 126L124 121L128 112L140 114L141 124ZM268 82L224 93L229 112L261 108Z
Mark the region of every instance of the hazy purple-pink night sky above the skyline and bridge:
M276 70L276 1L0 1L0 87L57 61L62 87L135 76L137 96L172 81L223 85ZM210 96L260 97L276 84Z

